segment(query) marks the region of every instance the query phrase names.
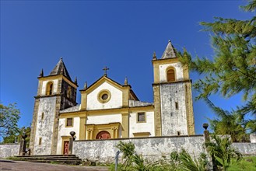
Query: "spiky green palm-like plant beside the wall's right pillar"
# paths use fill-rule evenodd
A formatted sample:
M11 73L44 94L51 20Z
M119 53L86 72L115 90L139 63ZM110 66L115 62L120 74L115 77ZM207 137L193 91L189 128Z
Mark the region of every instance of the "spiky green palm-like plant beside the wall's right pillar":
M231 159L242 159L242 155L231 146L232 142L229 138L221 138L212 135L213 141L205 143L207 150L212 155L217 166L221 166L226 170L230 166Z

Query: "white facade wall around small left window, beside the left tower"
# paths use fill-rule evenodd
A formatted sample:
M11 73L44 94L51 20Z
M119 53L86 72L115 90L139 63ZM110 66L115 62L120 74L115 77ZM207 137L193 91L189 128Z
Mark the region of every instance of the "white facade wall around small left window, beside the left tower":
M58 124L58 145L57 155L62 155L62 138L61 136L70 136L71 131L75 131L75 140L79 140L80 117L73 117L73 127L65 127L66 118L60 118Z

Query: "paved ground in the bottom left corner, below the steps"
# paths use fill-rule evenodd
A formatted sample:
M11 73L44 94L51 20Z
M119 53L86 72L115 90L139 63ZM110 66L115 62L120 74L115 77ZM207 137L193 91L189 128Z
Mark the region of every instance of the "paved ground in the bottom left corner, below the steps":
M23 162L0 159L0 170L11 171L107 171L107 167L100 166L65 166L38 162Z

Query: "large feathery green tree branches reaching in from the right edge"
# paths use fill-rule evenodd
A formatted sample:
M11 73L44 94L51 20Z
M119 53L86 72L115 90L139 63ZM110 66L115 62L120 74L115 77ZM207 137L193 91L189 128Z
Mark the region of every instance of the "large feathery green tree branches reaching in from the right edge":
M241 7L244 11L254 12L256 0L248 1ZM178 52L178 57L191 71L203 74L193 87L200 92L197 99L207 99L211 94L220 92L223 97L241 93L244 106L238 106L240 117L251 113L253 120L244 122L246 128L255 132L256 118L256 16L248 20L215 18L213 23L202 22L203 30L212 35L215 55L209 58L191 58L186 50ZM242 118L244 119L244 118Z

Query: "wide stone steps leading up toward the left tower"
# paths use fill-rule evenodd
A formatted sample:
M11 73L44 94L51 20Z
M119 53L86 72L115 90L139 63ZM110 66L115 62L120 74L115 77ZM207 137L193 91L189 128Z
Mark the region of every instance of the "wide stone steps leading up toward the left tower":
M82 160L75 155L19 155L10 159L16 161L48 162L68 165L79 165L82 163Z

